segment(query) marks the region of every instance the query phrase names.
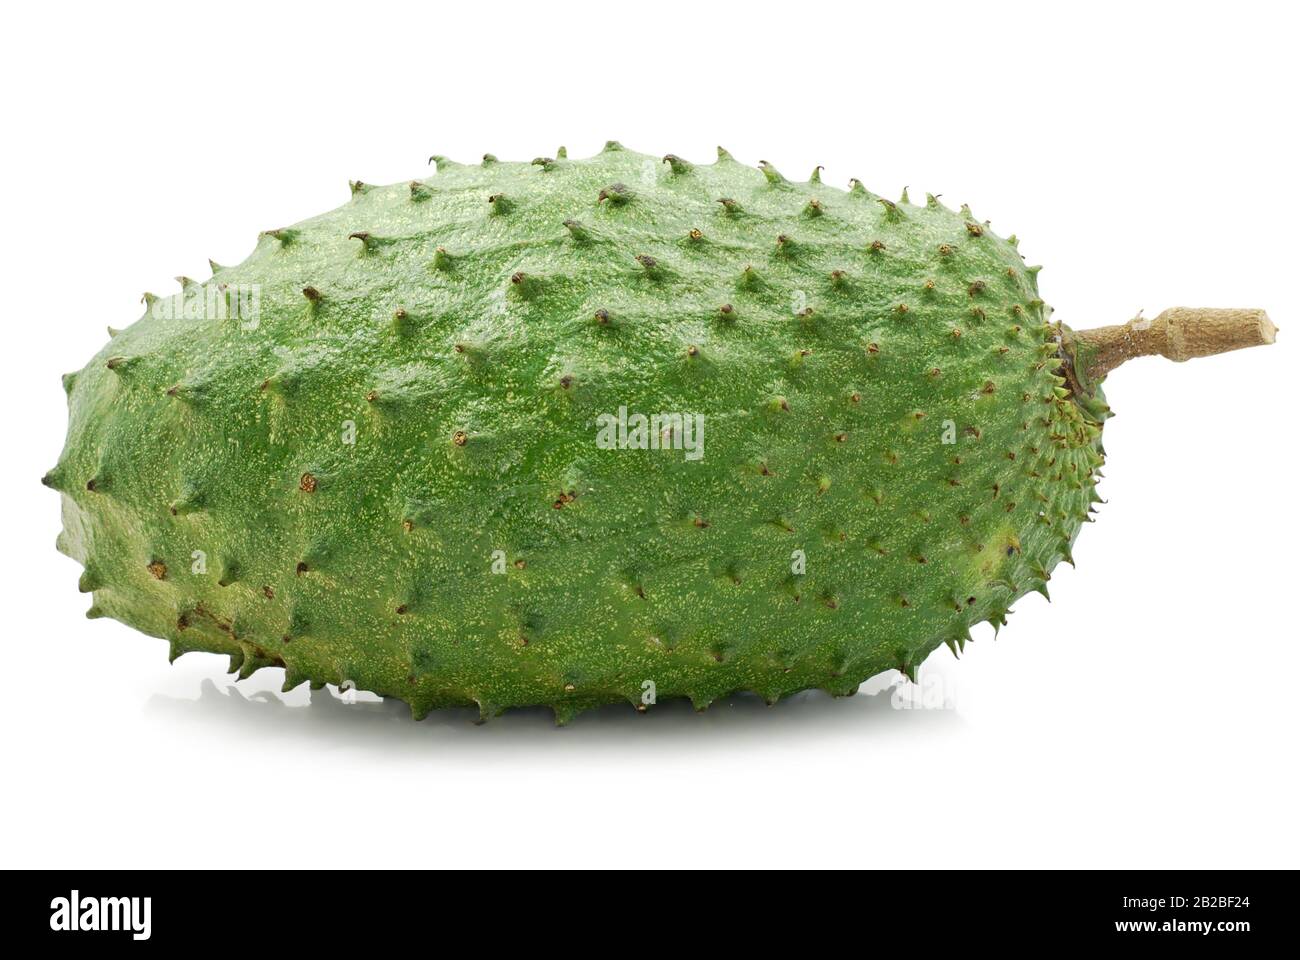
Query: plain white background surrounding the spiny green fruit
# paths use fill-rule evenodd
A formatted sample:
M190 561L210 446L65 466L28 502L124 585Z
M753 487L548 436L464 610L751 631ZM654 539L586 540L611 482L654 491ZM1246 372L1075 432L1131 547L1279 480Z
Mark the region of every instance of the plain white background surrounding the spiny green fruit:
M3 865L1300 866L1284 5L292 7L6 12ZM956 709L894 709L890 674L772 709L413 723L83 619L38 479L58 375L142 290L350 178L611 138L970 203L1075 327L1262 306L1282 333L1112 377L1078 571L933 654L922 699Z

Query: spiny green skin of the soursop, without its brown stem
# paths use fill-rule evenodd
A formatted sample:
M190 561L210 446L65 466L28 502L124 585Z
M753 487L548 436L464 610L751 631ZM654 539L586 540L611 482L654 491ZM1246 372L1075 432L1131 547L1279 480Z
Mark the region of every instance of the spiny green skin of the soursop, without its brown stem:
M58 546L173 658L416 717L914 676L1097 500L1035 273L965 208L724 151L438 157L65 377ZM256 323L185 319L237 285ZM620 407L703 415L703 457L602 449Z

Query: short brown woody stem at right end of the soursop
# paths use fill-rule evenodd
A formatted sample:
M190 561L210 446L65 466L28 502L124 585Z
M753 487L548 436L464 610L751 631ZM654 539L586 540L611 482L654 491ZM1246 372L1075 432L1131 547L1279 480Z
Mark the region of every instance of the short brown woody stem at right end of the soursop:
M1171 307L1153 320L1139 313L1126 324L1075 330L1072 353L1080 372L1097 381L1135 356L1158 354L1182 363L1271 343L1277 333L1262 310Z

